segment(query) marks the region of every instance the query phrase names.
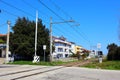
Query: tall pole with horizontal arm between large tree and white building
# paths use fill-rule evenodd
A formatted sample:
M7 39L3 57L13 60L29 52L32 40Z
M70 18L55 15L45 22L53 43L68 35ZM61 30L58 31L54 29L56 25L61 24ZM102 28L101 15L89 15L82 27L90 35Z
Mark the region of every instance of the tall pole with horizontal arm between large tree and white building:
M52 17L50 17L50 61L52 62L52 24L61 24L61 23L68 23L74 22L73 20L63 21L63 22L52 22Z

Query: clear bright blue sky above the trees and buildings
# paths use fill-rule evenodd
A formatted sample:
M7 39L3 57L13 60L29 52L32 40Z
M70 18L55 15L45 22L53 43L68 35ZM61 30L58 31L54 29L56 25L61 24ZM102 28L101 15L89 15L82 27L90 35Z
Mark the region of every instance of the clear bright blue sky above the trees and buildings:
M101 50L105 54L108 44L119 45L120 0L40 1L64 20L75 20L74 23L54 24L53 35L63 35L68 41L75 42L87 49L96 49L97 43L101 43ZM43 20L43 24L47 28L49 28L50 17L53 22L63 22L39 0L0 0L0 9L0 33L2 34L7 33L7 20L11 21L12 26L17 17L25 16L30 20L35 20L36 9L39 12L39 18ZM78 23L80 26L73 26Z

